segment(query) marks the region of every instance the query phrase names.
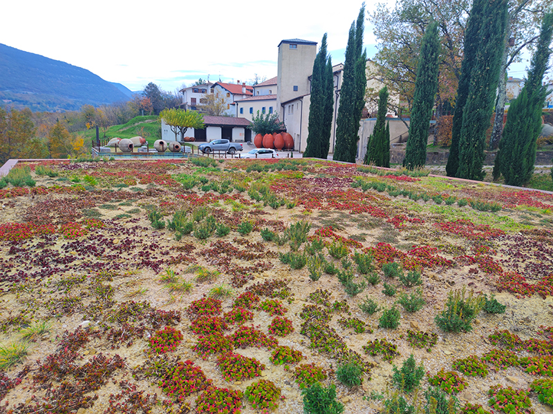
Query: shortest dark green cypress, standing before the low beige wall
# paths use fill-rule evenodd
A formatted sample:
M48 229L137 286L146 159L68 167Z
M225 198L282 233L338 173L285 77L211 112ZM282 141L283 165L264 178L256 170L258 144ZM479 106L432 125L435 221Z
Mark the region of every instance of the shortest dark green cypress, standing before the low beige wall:
M388 103L388 88L384 86L378 92L378 112L375 128L367 141L365 164L375 164L379 167L390 166L390 126L386 124Z

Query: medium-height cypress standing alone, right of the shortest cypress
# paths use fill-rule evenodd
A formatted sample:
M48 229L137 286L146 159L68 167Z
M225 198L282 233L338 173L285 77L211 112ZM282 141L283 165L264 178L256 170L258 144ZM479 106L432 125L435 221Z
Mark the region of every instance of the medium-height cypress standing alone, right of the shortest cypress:
M427 162L428 130L434 97L438 91L438 55L440 55L438 22L433 21L422 37L417 65L409 139L407 139L403 160L403 165L411 170L422 167Z

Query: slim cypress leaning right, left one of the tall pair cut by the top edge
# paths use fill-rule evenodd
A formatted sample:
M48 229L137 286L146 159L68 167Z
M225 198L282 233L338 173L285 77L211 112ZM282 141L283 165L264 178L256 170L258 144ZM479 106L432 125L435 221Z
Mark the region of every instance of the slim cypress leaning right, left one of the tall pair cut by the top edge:
M474 0L472 3L467 31L465 32L465 48L461 63L461 75L457 87L455 111L453 112L453 128L451 129L451 148L447 159L446 173L448 177L455 177L459 167L459 137L461 135L462 112L469 96L471 72L476 61L476 51L480 43L480 27L484 17L487 0Z

